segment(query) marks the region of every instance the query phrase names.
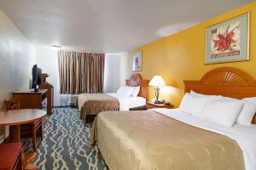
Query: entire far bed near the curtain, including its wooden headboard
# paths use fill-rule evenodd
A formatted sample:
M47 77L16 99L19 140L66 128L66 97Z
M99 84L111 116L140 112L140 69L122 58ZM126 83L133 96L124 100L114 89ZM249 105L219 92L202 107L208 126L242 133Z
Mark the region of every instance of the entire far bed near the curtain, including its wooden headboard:
M146 105L148 80L132 74L126 85L113 94L79 94L78 107L83 122L93 122L102 111L129 111L130 108Z

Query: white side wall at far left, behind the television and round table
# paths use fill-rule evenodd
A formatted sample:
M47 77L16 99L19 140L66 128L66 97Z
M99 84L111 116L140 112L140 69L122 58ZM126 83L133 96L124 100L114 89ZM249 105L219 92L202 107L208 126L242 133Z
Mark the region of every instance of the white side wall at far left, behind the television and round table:
M1 9L0 23L0 107L2 107L3 100L12 97L12 92L29 88L35 49ZM3 131L1 127L0 140L3 139Z

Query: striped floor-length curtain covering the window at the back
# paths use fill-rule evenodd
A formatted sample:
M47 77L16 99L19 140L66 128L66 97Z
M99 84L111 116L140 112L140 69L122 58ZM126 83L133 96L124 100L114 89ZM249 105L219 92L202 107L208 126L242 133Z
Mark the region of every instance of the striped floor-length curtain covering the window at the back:
M103 92L105 54L58 51L60 94Z

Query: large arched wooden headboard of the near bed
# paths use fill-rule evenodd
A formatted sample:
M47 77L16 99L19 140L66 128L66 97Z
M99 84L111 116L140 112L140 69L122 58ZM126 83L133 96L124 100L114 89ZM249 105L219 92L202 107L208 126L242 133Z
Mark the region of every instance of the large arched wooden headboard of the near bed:
M193 90L200 94L223 95L242 99L256 96L256 81L245 71L219 67L207 72L200 81L184 81L185 93ZM253 117L256 124L256 116Z

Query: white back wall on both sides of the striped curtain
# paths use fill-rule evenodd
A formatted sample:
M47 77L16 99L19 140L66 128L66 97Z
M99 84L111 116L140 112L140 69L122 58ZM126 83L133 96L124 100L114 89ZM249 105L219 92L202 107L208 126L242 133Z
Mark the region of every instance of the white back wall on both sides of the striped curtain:
M116 92L120 85L125 84L126 54L106 54L104 93ZM68 105L69 95L59 94L59 71L57 51L48 47L36 47L36 63L44 73L49 74L47 81L54 86L54 105Z

